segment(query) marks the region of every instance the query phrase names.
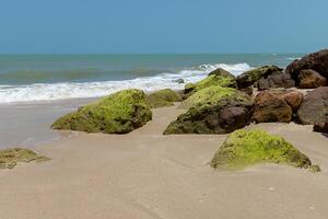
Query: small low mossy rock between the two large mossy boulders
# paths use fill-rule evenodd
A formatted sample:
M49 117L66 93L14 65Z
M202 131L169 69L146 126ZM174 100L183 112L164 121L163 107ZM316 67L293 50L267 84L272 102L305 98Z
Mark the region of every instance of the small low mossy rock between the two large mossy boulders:
M147 96L148 103L153 108L173 106L174 102L181 102L183 97L171 89L163 89Z

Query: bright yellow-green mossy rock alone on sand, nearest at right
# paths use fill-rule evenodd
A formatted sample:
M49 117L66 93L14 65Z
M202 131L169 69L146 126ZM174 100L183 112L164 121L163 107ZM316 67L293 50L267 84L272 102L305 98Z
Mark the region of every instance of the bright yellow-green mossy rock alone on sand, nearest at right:
M213 168L242 169L265 162L282 163L311 171L319 170L283 138L260 129L241 129L232 132L210 164Z

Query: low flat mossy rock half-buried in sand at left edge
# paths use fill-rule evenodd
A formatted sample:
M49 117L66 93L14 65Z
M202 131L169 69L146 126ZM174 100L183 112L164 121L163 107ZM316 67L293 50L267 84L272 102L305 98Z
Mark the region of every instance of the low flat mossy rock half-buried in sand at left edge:
M0 150L0 169L12 169L20 162L30 163L47 160L49 159L28 149L10 148Z

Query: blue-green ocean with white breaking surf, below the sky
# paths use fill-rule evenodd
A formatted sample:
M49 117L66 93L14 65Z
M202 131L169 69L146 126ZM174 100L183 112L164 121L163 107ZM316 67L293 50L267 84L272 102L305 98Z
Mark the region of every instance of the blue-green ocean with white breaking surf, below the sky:
M285 67L302 54L0 55L0 104L98 97L137 88L183 89L221 67L235 76Z

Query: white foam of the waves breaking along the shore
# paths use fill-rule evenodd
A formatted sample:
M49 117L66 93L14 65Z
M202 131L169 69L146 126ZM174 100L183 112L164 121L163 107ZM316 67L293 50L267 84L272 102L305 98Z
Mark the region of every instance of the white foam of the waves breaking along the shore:
M122 81L99 81L84 83L35 83L28 85L0 85L0 103L55 101L65 99L98 97L124 89L141 89L145 92L169 88L184 89L185 84L175 82L184 79L186 83L196 82L216 69L223 68L235 76L251 69L247 64L236 65L202 65L184 69L176 73L161 73L154 77L143 77Z

